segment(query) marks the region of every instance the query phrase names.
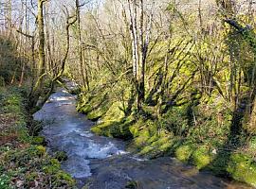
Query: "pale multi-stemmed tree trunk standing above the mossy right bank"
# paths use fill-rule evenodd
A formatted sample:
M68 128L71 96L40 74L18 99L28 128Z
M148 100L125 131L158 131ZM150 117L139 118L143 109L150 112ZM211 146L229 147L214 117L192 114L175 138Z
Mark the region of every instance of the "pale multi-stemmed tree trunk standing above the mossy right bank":
M147 19L145 19L143 0L139 1L139 19L137 18L137 1L128 0L128 4L131 19L130 30L133 49L133 73L137 86L137 110L141 111L142 103L145 99L145 66L148 56L155 2L152 3L150 12L146 14Z

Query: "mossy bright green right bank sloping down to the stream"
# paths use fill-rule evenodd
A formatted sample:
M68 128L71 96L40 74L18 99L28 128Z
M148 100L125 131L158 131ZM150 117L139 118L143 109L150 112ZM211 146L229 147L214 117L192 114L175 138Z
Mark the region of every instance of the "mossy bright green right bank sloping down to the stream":
M200 115L202 119L211 116L204 118L203 124L206 125L189 130L186 129L188 107L175 107L155 119L155 109L149 106L143 107L143 113L138 113L132 105L132 111L126 113L132 97L126 94L127 100L121 101L114 92L95 90L80 95L77 110L91 120L98 120L98 124L91 129L94 133L126 140L129 151L147 159L174 157L182 163L194 165L199 171L210 171L222 178L256 185L256 163L251 153L253 140L247 141L247 146L239 146L238 143L233 146L234 140L240 143L246 137L241 134L232 138L229 133L230 116L218 125L218 117L205 112L207 115Z

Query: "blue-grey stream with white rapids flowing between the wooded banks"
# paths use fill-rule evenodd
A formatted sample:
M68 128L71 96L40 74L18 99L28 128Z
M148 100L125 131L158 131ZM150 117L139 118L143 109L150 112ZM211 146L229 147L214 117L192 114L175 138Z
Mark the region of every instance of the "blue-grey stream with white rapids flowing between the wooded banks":
M199 173L172 158L143 160L125 152L124 142L90 132L94 123L76 112L76 95L64 89L52 94L34 118L45 123L42 134L49 150L67 153L62 168L78 181L79 188L89 181L90 189L124 189L131 180L137 181L139 189L250 188Z

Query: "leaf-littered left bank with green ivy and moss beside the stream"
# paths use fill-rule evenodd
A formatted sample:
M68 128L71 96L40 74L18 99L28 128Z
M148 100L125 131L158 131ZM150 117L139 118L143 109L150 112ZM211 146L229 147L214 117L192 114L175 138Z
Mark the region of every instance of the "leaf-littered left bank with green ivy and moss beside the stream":
M0 188L72 188L75 180L36 136L41 124L32 121L25 96L19 88L0 89Z

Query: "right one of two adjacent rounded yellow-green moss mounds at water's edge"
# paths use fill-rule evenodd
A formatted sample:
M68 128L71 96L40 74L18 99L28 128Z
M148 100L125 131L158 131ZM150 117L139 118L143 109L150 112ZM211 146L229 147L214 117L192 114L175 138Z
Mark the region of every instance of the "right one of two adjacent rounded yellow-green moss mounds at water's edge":
M209 149L206 146L199 146L192 153L192 163L198 168L202 169L212 162Z

